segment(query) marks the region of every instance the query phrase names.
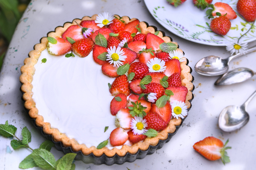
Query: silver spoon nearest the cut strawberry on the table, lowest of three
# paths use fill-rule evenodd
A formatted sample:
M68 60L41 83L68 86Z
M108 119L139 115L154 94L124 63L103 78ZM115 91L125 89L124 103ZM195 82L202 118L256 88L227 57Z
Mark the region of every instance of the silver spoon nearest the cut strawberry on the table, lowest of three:
M231 132L242 128L249 121L249 114L246 107L252 98L256 95L256 91L247 99L242 106L225 107L219 116L219 127L225 132Z

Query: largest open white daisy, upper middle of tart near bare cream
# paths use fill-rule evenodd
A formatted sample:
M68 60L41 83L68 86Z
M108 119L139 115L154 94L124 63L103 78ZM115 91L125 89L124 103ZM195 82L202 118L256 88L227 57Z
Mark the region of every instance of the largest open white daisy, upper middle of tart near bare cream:
M125 61L126 55L124 55L124 51L121 50L121 47L114 46L113 48L110 47L110 49L107 49L108 54L107 54L107 60L110 60L108 63L112 64L114 63L114 67L119 67L123 65L124 63L121 61Z

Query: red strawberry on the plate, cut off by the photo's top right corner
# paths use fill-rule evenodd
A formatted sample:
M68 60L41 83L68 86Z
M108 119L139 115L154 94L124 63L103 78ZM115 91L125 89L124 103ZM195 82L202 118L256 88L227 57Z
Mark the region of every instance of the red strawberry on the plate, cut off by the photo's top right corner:
M248 22L256 19L256 0L238 0L236 9Z

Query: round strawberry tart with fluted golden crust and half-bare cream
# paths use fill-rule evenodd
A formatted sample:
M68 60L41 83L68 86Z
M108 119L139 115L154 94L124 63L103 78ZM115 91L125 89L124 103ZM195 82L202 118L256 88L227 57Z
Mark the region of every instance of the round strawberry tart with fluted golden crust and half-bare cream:
M187 59L145 22L104 12L47 36L24 60L20 81L29 116L54 142L122 158L166 140L188 115Z

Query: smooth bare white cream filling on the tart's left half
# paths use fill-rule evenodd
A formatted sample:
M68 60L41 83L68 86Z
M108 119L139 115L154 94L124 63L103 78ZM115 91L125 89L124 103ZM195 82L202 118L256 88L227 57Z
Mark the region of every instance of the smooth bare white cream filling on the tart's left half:
M94 62L92 52L81 58L42 51L35 65L33 99L44 122L51 123L69 138L87 147L107 140L116 129L116 116L110 113L113 96L108 89L115 78L104 75L101 65ZM41 60L46 58L46 63ZM108 130L104 133L105 127ZM131 145L129 140L125 143ZM113 146L108 142L107 147ZM121 149L122 146L116 148Z

